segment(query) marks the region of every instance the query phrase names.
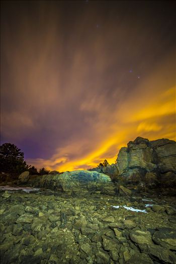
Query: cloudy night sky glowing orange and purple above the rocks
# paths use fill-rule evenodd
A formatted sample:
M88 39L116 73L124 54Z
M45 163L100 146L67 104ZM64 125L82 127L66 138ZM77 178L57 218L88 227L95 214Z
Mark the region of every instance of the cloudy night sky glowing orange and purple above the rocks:
M174 1L2 1L1 143L90 168L175 136Z

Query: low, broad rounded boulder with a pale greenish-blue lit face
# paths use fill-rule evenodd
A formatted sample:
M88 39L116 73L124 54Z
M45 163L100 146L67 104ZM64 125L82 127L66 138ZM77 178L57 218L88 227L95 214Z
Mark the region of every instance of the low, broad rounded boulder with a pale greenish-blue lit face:
M68 194L95 191L102 194L116 194L116 188L108 175L89 170L65 171L62 174L43 175L40 187Z

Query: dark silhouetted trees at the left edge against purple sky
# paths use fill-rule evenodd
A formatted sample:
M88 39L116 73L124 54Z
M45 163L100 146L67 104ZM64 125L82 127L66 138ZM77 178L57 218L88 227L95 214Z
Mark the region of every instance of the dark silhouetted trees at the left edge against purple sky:
M28 165L24 160L24 152L21 152L17 146L11 143L5 143L0 146L0 172L22 173L28 170L30 174L48 174L49 170Z

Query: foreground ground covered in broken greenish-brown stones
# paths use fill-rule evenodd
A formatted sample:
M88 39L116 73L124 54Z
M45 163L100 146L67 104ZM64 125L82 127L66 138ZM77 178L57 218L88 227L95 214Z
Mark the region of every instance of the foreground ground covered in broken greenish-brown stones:
M1 263L176 263L175 209L154 192L1 190Z

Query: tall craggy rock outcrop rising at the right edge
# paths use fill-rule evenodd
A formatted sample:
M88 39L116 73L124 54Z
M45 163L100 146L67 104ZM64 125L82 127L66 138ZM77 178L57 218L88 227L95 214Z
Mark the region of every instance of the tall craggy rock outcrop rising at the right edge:
M120 149L117 157L117 169L120 176L133 182L152 183L148 173L153 173L159 181L166 183L166 179L176 184L176 142L169 139L157 139L149 141L146 138L137 137L128 143L128 147ZM169 183L167 183L168 185Z

